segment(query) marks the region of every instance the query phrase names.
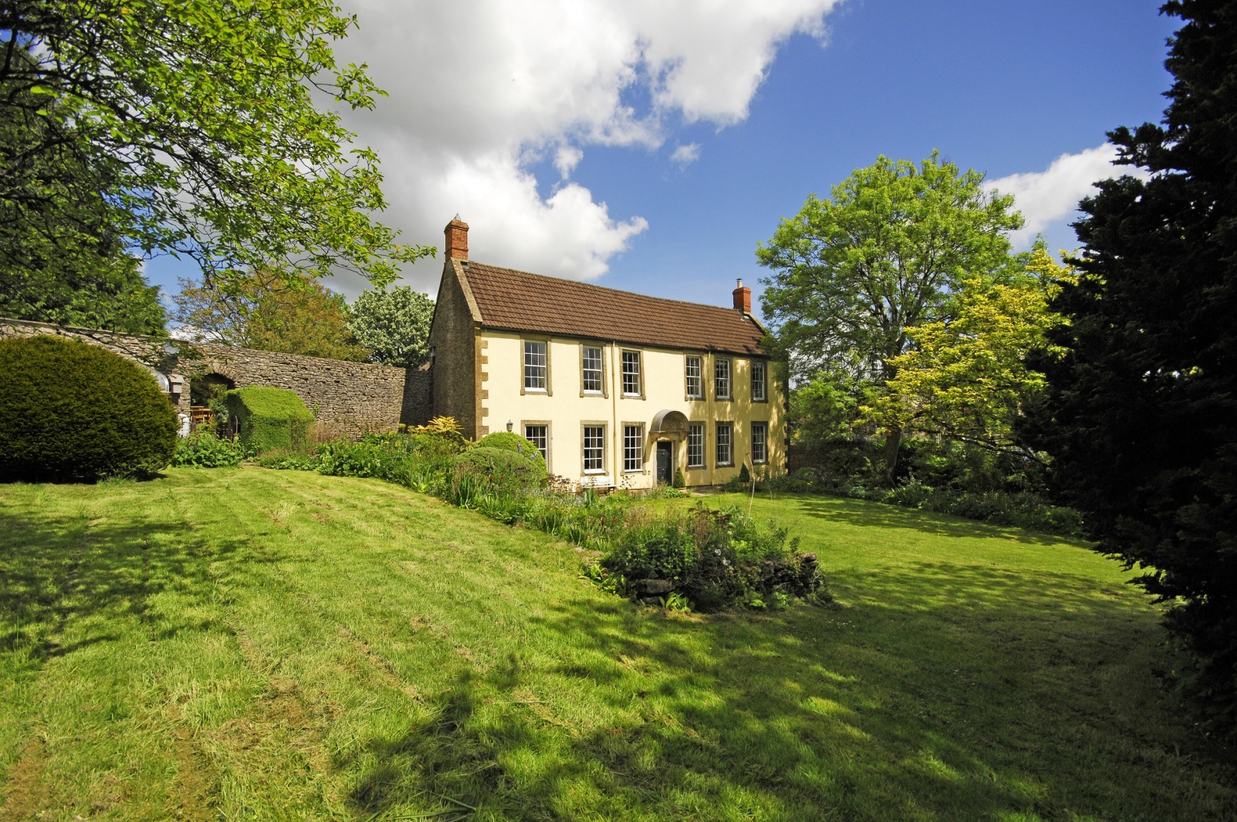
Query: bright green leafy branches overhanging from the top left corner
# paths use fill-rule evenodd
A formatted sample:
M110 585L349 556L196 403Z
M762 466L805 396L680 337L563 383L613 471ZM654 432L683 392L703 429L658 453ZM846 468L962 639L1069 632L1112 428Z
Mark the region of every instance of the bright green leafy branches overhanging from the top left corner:
M380 94L333 57L354 24L332 0L0 5L0 121L30 137L2 152L0 204L32 234L56 198L96 208L85 235L189 256L212 283L256 269L388 282L429 250L372 219L377 157L314 105ZM66 162L89 173L57 191Z

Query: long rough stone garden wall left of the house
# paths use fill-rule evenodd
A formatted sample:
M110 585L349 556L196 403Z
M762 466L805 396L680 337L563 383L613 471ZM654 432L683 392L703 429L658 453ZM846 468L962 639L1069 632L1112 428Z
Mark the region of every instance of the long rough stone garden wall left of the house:
M0 318L0 338L59 334L103 345L168 378L171 399L189 410L189 380L221 374L236 387L267 385L296 391L319 422L357 437L366 431L391 431L398 423L429 420L433 375L428 369L402 369L349 363L320 357L278 354L212 343L118 334Z

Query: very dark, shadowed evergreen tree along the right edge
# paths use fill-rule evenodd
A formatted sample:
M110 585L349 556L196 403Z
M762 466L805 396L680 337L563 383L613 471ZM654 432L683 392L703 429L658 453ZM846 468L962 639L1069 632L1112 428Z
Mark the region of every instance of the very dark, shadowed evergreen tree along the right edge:
M1145 569L1237 719L1237 2L1163 6L1175 82L1162 124L1111 132L1119 163L1076 224L1081 277L1054 307L1065 357L1028 436L1101 551Z

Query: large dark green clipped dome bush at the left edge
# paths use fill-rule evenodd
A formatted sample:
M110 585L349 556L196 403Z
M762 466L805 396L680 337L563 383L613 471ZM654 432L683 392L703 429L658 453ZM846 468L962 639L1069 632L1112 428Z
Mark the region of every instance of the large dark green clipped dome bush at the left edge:
M0 340L0 480L148 477L172 461L176 430L141 365L49 334Z

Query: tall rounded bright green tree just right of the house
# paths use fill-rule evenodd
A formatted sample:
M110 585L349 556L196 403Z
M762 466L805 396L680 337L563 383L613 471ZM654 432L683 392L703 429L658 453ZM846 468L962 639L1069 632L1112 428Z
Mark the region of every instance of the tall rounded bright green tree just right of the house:
M907 329L951 317L964 279L1007 276L1004 233L1022 217L982 183L936 154L918 166L882 156L782 220L756 256L773 270L764 316L793 379L847 371L883 384L910 345ZM888 430L891 482L901 438Z

